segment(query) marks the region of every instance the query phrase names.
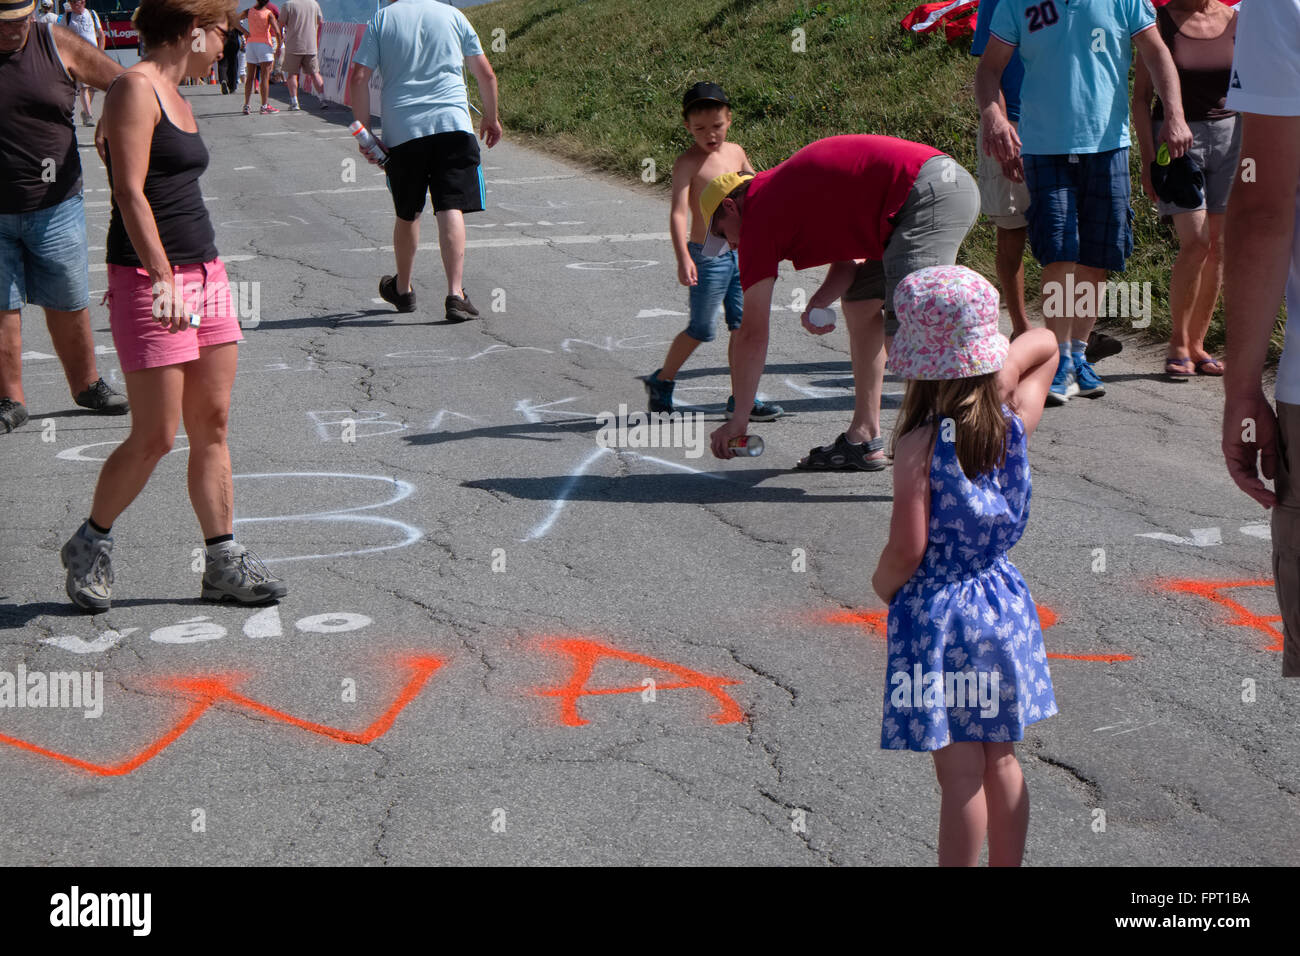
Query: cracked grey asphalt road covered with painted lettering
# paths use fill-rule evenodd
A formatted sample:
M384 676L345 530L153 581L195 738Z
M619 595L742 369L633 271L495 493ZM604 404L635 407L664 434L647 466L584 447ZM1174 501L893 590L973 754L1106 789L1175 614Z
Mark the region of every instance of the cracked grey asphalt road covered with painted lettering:
M260 306L237 532L290 594L198 601L182 436L114 527L112 611L70 607L58 546L127 421L73 410L27 310L0 671L100 672L104 700L0 708L0 860L932 864L931 761L879 748L889 472L790 470L848 424L844 332L774 313L762 393L797 415L754 427L759 458L602 449L595 416L644 407L636 376L685 323L666 194L507 140L469 219L484 319L442 321L430 217L420 310L396 315L376 299L389 196L372 168L347 181L342 111L191 94L218 247ZM816 278L786 264L776 302ZM679 388L711 421L724 350ZM1098 367L1109 394L1049 410L1031 447L1013 559L1054 619L1061 713L1018 748L1027 862L1294 865L1300 684L1279 676L1266 514L1223 468L1219 384L1166 382L1158 355L1130 342Z

